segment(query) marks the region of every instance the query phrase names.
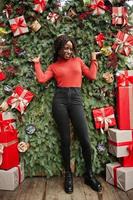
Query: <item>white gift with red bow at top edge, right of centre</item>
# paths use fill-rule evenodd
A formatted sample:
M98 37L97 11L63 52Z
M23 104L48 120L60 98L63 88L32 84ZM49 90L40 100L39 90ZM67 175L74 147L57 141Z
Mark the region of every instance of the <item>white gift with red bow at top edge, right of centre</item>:
M92 15L102 15L107 10L107 7L104 5L104 0L92 0L89 7L93 10Z

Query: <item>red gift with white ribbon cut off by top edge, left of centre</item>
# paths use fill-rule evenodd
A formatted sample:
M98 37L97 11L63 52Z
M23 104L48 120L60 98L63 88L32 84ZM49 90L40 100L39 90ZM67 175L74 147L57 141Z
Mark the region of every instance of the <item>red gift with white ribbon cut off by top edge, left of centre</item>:
M34 0L33 10L42 13L46 9L47 0Z

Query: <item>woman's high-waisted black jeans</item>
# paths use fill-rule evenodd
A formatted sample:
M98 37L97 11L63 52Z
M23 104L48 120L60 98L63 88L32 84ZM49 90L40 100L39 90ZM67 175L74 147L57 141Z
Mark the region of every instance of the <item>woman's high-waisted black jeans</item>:
M61 138L61 153L66 171L70 170L70 120L82 147L86 172L90 171L91 148L80 88L57 88L53 99L53 117Z

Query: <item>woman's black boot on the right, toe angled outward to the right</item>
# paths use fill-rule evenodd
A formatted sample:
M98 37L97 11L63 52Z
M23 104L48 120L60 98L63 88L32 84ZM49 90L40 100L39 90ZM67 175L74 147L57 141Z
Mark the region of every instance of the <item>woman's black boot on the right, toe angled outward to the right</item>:
M101 183L96 179L94 174L91 172L84 175L84 181L86 185L89 185L93 190L100 192L102 191Z

